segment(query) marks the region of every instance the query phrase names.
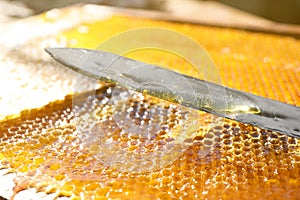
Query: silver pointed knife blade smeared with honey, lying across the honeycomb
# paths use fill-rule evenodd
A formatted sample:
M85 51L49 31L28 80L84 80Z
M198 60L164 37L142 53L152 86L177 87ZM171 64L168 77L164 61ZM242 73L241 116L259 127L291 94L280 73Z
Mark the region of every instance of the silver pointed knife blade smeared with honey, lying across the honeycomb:
M193 109L300 138L300 108L98 50L47 48L66 67Z

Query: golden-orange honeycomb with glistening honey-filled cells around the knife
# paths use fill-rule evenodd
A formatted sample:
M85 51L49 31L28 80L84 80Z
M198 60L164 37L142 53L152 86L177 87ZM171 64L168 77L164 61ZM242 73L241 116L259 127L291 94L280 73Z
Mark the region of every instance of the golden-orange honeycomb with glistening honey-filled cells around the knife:
M96 48L121 31L167 27L202 44L225 85L300 105L297 39L124 16L82 26L88 32L75 28L57 40ZM128 57L193 74L160 51ZM114 90L103 85L0 122L0 162L17 173L15 194L36 188L73 199L299 199L299 139L138 93L114 105Z

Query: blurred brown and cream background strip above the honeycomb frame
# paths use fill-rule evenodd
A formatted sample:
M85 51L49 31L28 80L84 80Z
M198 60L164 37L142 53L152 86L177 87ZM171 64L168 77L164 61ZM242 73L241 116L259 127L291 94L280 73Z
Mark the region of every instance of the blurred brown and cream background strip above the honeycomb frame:
M176 6L178 9L188 9L185 4L201 6L203 2L218 2L276 22L300 24L300 0L0 0L0 21L80 2L162 11Z

